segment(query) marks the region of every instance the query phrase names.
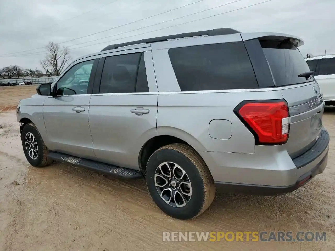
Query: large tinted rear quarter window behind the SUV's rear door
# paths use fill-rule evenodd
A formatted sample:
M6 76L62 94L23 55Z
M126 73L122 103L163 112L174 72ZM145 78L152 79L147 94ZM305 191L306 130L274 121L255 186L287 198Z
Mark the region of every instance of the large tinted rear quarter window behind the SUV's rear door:
M258 88L243 42L172 48L169 56L181 91Z

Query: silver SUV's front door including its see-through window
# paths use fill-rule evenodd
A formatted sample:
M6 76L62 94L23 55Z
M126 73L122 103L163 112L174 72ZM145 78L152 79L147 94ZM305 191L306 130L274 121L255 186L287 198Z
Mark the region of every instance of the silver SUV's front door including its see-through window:
M55 95L46 98L43 118L50 150L95 159L88 111L97 63L92 59L74 64L57 81Z

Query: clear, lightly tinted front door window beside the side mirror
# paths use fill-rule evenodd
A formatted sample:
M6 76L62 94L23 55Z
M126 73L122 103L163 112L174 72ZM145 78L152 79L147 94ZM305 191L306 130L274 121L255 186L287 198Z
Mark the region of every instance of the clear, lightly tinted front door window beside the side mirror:
M87 94L88 81L94 60L74 65L56 84L56 95Z

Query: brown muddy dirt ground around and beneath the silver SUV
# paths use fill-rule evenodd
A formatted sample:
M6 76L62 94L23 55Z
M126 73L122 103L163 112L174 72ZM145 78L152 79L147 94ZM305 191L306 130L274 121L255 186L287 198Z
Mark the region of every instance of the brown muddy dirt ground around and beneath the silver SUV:
M335 250L335 110L324 115L328 166L304 187L262 197L217 192L200 217L180 221L153 203L143 180L26 161L14 106L36 86L0 87L0 250ZM163 242L163 231L327 232L319 242Z

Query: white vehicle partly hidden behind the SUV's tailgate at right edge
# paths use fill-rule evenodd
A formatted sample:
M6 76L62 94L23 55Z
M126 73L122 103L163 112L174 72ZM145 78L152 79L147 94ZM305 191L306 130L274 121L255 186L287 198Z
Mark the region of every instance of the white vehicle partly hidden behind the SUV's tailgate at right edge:
M318 81L326 106L335 106L335 55L307 58L306 62Z

